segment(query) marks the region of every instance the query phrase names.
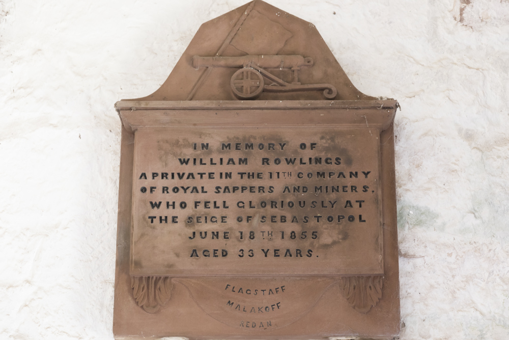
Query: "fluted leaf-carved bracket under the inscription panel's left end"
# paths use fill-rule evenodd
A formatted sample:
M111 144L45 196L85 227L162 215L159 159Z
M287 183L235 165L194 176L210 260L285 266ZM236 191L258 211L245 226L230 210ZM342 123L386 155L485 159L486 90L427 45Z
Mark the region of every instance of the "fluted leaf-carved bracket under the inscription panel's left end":
M138 306L155 313L171 297L173 282L166 276L131 276L131 287Z

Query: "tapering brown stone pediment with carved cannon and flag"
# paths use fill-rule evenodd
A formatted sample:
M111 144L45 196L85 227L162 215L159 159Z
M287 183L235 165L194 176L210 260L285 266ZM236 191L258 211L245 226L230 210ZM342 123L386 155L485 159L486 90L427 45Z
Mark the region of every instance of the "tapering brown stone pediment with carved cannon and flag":
M202 24L164 84L130 100L366 100L315 25L254 0Z

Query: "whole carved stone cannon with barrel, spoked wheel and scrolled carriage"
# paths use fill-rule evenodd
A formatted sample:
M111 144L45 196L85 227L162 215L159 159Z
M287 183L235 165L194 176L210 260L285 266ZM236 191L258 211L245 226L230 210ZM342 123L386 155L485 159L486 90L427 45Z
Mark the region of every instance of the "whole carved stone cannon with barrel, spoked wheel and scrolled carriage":
M336 96L336 88L331 84L299 83L298 71L301 67L313 66L312 58L299 55L248 55L242 57L200 57L192 58L194 68L201 67L228 67L240 68L230 81L233 93L241 99L255 99L263 91L266 92L294 92L324 90L323 95L332 99ZM293 71L293 82L287 83L265 69L290 69ZM272 82L265 85L264 77Z

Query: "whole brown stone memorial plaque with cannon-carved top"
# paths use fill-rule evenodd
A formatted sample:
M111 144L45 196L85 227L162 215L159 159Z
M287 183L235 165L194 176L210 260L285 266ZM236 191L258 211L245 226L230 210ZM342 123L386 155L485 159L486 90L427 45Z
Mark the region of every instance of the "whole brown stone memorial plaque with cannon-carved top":
M159 90L116 103L115 336L397 335L397 107L264 2L202 25Z

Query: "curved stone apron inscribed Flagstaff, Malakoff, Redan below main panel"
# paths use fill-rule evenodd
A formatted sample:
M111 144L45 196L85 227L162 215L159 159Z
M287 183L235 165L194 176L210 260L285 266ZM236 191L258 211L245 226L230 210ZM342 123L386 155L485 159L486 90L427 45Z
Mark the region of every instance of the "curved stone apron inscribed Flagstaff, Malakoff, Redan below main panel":
M337 277L316 278L176 278L187 287L193 300L222 323L235 328L265 331L285 327L305 318L309 308L329 291L337 287ZM205 282L204 282L205 280ZM303 294L306 291L307 294ZM243 322L243 324L242 324ZM253 325L257 325L253 327ZM262 326L260 326L262 325Z

